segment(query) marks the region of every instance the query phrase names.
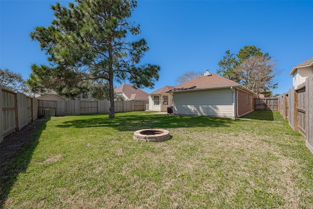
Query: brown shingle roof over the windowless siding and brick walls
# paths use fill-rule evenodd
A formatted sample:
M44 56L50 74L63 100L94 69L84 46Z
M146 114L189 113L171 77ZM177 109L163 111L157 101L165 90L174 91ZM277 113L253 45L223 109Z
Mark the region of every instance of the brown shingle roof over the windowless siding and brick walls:
M208 73L208 72L207 72ZM246 87L242 86L235 81L229 80L224 78L220 75L215 73L208 73L206 75L201 75L200 77L194 78L190 81L182 83L176 86L168 93L173 92L185 92L185 91L196 91L196 90L208 90L208 89L222 89L222 88L230 88L230 87L242 87L246 91L253 93L258 96L258 94L252 92L251 90L247 89Z

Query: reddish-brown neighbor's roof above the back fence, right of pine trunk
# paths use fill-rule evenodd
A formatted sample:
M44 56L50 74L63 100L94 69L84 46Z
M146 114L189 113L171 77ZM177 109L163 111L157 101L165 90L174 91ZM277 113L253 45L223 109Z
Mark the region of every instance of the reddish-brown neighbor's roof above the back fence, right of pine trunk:
M135 89L132 85L130 84L122 84L119 87L114 89L114 92L119 93L122 92L124 93L128 99L130 100L147 100L148 98L148 93L140 90L140 89Z

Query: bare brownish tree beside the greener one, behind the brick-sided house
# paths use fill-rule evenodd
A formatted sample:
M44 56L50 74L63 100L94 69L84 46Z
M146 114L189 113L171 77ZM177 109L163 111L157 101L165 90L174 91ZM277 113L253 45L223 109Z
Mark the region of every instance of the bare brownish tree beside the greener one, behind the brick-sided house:
M277 88L277 84L272 84L275 66L270 57L252 56L237 65L234 71L240 75L241 84L255 93L261 93Z

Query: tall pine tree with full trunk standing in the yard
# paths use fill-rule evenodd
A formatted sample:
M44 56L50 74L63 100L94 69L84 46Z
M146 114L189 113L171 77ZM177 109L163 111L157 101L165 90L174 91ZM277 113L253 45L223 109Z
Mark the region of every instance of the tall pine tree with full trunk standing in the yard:
M113 80L129 80L134 87L153 87L160 67L140 64L149 47L145 39L128 41L140 33L130 21L136 1L76 0L68 7L52 5L54 20L30 34L40 43L54 68L75 69L77 80L104 79L109 83L110 114L114 118Z

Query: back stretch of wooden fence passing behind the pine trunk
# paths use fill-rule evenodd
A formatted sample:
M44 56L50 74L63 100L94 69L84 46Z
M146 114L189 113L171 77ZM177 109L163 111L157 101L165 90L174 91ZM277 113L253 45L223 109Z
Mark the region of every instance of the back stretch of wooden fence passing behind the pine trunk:
M148 101L114 101L115 112L146 110ZM38 100L38 116L44 116L46 109L54 109L54 116L109 113L109 101L86 100Z

